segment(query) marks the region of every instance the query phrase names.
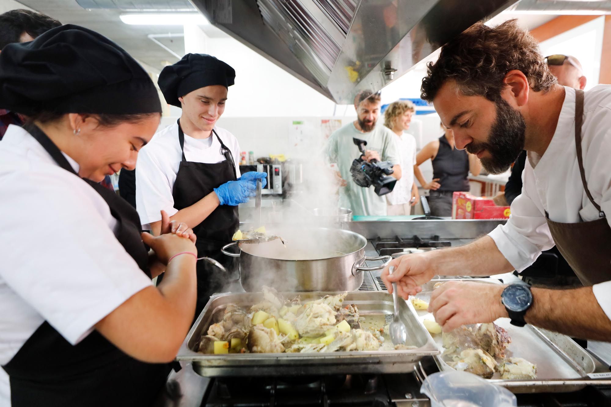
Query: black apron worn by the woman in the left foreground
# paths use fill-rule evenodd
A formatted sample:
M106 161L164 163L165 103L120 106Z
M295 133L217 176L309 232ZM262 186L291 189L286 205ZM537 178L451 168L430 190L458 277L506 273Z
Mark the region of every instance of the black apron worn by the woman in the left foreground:
M76 174L45 133L35 126L27 131L60 167ZM119 243L150 277L136 210L109 189L85 181L106 201L117 219ZM95 330L77 345L71 345L46 321L2 367L10 376L12 407L149 406L170 370L169 364L148 364L131 358Z

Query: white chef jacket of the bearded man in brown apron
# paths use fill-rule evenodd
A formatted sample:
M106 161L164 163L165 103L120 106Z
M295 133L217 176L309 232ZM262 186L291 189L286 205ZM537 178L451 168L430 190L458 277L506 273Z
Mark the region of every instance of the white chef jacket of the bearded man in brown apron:
M543 156L529 152L522 172L522 194L511 204L507 224L489 233L516 270L524 270L554 246L545 211L555 222L599 219L581 181L575 150L575 90L565 87L558 125ZM585 179L595 202L611 222L611 86L585 92L582 149ZM611 224L611 223L610 223ZM610 249L611 249L611 242ZM576 242L576 244L579 244ZM593 287L598 303L611 318L611 281Z

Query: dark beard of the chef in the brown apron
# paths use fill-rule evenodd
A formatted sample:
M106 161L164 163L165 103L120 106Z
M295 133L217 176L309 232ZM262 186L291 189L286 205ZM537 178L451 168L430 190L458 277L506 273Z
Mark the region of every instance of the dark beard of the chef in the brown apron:
M507 101L496 102L497 118L492 124L488 141L467 145L467 152L477 154L481 150L490 153L490 157L481 158L481 166L490 174L502 174L511 167L524 150L526 123L524 117Z

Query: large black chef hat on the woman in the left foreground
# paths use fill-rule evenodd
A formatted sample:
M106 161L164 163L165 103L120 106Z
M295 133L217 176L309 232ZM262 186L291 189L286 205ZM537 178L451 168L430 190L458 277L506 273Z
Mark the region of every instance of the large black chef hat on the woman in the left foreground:
M161 112L146 71L119 45L66 24L0 53L0 108L39 112L141 114Z

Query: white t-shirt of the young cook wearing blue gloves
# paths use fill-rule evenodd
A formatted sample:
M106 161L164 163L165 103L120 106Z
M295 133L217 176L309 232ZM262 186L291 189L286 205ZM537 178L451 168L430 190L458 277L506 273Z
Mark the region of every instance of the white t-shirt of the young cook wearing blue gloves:
M235 161L235 172L240 177L240 145L238 139L224 128L214 127L223 144L227 146ZM221 143L211 134L206 139L194 139L185 134L185 159L194 163L216 164L225 161ZM174 123L153 136L153 139L138 153L136 163L136 208L142 229L150 230L152 222L161 221L159 211L172 216L174 208L172 188L182 155L178 142L178 123Z

